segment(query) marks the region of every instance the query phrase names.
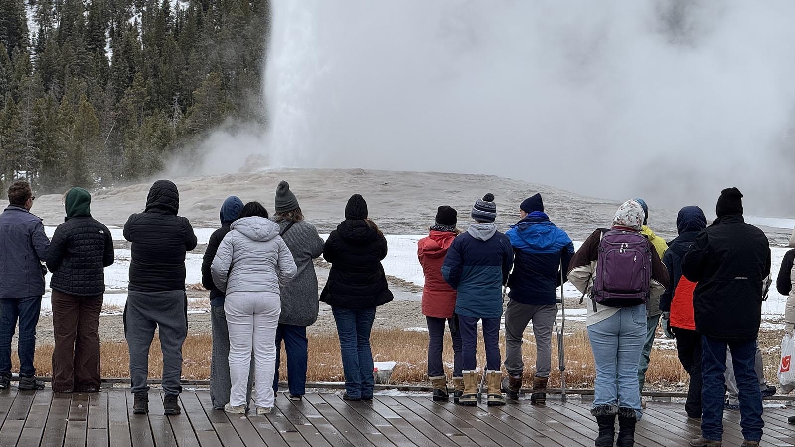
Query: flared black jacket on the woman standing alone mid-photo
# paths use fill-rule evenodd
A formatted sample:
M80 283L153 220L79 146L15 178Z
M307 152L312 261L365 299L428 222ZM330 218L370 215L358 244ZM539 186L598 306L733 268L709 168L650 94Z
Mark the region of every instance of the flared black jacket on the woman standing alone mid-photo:
M386 239L365 220L343 220L328 236L323 257L332 263L332 270L320 301L366 309L394 299L381 265L386 258Z

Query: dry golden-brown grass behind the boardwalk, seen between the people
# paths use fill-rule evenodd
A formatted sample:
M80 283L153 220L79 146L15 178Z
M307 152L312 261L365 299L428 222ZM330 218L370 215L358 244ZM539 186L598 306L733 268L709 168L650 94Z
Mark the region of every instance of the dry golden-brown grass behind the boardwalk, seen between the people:
M339 355L339 339L335 334L317 334L308 336L308 371L307 379L312 382L343 381L342 361ZM393 383L426 383L428 333L407 332L401 329L376 330L371 336L373 357L376 361L394 360L397 366L392 374ZM568 387L592 387L594 379L594 362L588 336L584 331L565 337L566 343L566 383ZM184 379L206 380L210 375L212 338L209 335L188 336L183 347ZM500 340L500 348L505 352L505 340ZM525 378L532 377L535 365L535 344L529 336L524 344L525 367L528 369ZM444 361L448 363L448 371L452 365L452 341L445 339ZM129 377L126 343L106 342L102 344L102 375L103 377ZM16 357L16 355L14 355ZM52 374L52 345L37 348L36 367L40 375ZM483 347L479 346L478 361L485 364ZM286 379L282 356L281 379ZM553 338L553 372L550 387L560 385L557 372L557 346ZM155 337L149 350L149 377L159 378L162 372L162 354L160 342ZM18 368L14 360L14 368ZM451 371L452 372L452 371ZM670 349L654 349L651 366L647 375L647 383L681 383L686 382L687 375L677 359L676 351ZM528 382L529 383L529 382Z

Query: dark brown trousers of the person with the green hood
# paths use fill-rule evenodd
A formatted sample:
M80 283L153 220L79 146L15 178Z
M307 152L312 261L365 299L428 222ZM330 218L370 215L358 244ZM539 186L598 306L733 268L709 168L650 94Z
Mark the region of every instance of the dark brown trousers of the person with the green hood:
M99 391L99 313L103 296L52 291L52 391Z

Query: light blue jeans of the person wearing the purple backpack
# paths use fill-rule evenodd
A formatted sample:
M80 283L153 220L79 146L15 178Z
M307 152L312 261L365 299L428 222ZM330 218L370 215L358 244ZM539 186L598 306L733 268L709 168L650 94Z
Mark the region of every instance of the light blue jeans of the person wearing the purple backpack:
M607 320L588 326L588 340L596 363L593 407L635 410L640 419L638 363L646 343L646 305L622 307Z

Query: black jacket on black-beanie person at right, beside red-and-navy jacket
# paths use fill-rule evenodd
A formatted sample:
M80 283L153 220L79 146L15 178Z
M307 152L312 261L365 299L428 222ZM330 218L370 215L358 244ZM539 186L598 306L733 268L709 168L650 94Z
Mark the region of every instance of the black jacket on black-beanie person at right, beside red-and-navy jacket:
M717 340L756 340L762 282L770 274L770 247L762 230L740 214L715 219L684 255L682 274L698 284L696 331Z

